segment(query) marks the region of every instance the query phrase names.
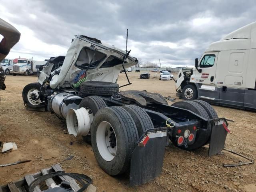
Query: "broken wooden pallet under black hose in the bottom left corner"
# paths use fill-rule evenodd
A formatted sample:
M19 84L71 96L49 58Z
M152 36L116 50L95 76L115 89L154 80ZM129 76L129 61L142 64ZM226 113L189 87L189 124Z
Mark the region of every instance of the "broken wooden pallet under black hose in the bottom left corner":
M53 165L51 168L42 169L40 172L26 175L24 178L10 182L7 185L0 186L0 192L28 192L28 186L34 181L36 178L42 175L46 175L48 173L63 171L63 169L58 165ZM42 190L46 190L50 188L52 184L60 184L62 181L70 182L70 186L74 191L78 191L80 186L77 184L76 180L74 180L70 176L57 176L56 178L48 178L45 180L46 186L44 189L40 189L39 186L36 186L34 192L42 192Z

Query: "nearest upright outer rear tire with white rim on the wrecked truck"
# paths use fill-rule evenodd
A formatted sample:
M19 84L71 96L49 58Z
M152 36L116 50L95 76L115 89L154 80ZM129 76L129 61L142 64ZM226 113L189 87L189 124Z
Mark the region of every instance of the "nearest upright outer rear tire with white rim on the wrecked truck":
M94 116L92 149L99 166L109 175L129 170L132 152L139 139L132 116L122 107L106 107Z

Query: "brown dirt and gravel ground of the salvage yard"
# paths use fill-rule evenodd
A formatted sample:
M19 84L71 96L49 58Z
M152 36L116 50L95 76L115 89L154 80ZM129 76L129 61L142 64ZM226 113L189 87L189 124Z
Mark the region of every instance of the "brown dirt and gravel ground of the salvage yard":
M155 73L151 72L152 76ZM173 80L139 79L139 73L135 72L128 75L132 85L121 90L147 90L176 98ZM0 91L0 123L3 126L0 141L16 142L18 146L17 151L0 154L0 164L31 160L24 164L0 167L0 185L60 163L66 172L92 177L98 192L256 192L255 164L224 168L223 164L247 160L226 151L208 157L206 148L187 152L172 145L166 147L162 174L147 184L130 187L126 176L112 177L101 170L91 146L80 137L68 135L65 124L54 114L25 109L22 89L26 84L36 81L36 76L7 76L7 88ZM127 84L124 73L120 74L118 84ZM234 121L229 122L231 133L227 136L226 148L255 159L256 113L220 106L214 108L219 117ZM66 160L71 155L74 158Z

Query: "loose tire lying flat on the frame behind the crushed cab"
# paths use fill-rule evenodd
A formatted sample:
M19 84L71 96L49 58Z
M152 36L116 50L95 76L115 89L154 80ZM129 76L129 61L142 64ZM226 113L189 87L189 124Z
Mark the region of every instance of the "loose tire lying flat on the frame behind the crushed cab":
M119 85L112 82L86 81L81 84L80 93L82 96L101 95L111 96L119 92Z

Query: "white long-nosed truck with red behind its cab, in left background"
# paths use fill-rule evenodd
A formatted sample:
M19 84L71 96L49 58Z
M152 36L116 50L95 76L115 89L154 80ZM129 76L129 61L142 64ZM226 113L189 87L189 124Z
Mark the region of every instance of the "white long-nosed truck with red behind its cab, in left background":
M32 61L30 59L18 59L18 62L12 66L12 75L24 74L28 76L33 74L31 64Z

